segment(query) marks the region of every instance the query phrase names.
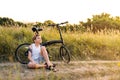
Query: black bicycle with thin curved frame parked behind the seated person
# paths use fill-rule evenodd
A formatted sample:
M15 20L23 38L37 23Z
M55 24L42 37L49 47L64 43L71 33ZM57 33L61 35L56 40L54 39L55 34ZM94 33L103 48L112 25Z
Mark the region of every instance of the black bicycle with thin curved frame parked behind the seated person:
M65 63L69 63L70 62L70 52L64 44L63 37L62 37L62 32L61 32L61 29L60 29L60 25L63 25L63 24L66 24L66 23L68 23L68 22L48 25L48 26L56 26L57 27L57 29L59 31L59 35L60 35L60 40L51 40L51 41L41 43L40 45L48 47L49 45L52 45L52 44L61 43L61 46L60 46L60 49L59 49L59 55ZM38 28L38 27L33 27L32 31L39 34L39 31L42 31L42 29ZM23 43L23 44L20 44L15 50L15 58L21 64L27 64L29 62L29 60L27 58L29 46L30 46L30 43ZM49 54L48 50L47 50L47 52ZM49 55L49 57L50 57L50 55Z

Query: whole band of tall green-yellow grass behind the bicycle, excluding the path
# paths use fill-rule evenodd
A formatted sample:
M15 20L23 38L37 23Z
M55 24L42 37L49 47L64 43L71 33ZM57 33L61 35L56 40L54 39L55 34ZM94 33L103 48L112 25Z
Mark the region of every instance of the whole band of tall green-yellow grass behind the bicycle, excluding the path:
M54 28L45 28L40 32L43 42L59 39ZM31 28L0 27L0 61L14 59L14 52L21 43L32 43ZM73 60L119 60L120 32L63 32L63 39L71 52ZM50 53L58 56L60 45L48 47ZM58 57L57 57L58 58Z

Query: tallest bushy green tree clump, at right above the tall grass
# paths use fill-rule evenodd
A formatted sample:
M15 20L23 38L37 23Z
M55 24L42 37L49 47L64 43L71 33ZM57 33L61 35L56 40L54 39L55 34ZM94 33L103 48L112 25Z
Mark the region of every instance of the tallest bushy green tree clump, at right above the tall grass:
M94 33L101 30L118 29L120 30L120 17L111 17L108 13L93 15L87 22L80 22L85 28L89 28Z

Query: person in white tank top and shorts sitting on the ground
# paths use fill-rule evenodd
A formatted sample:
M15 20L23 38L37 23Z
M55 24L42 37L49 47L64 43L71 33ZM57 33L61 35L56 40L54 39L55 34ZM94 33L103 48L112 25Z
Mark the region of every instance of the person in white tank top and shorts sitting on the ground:
M46 51L45 46L41 46L40 43L42 43L41 36L38 34L35 34L33 37L33 44L29 46L29 54L28 54L28 68L42 68L45 67L49 70L56 71L54 68L55 65L53 65L48 57L48 53ZM45 61L45 64L40 64L40 62Z

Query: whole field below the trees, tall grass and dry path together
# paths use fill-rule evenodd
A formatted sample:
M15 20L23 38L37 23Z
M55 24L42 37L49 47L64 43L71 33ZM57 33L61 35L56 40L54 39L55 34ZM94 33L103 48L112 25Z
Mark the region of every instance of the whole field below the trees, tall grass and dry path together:
M71 63L59 62L60 45L48 47L58 72L27 69L16 62L14 52L22 43L32 43L31 28L0 27L0 80L120 80L120 32L62 32L71 53ZM59 39L55 28L40 32L43 42Z

